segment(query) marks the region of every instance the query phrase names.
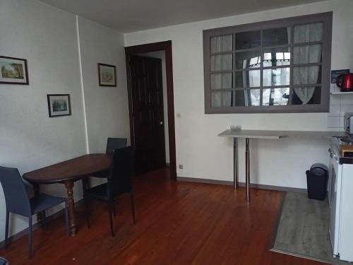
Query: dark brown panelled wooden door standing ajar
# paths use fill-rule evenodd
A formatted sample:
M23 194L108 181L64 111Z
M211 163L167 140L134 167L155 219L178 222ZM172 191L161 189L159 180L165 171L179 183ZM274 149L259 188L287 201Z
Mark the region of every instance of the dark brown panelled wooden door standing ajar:
M162 62L131 56L131 109L136 173L165 166Z

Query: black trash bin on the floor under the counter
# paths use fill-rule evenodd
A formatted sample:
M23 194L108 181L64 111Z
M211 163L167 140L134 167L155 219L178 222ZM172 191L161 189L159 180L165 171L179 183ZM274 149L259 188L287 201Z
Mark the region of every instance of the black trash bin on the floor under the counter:
M306 170L308 184L308 198L323 201L328 188L328 167L323 164L314 164Z

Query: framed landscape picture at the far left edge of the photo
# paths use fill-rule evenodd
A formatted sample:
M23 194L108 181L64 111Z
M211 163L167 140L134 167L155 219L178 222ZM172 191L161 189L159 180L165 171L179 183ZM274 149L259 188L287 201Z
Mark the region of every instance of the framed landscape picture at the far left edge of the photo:
M27 60L0 56L0 83L28 85Z

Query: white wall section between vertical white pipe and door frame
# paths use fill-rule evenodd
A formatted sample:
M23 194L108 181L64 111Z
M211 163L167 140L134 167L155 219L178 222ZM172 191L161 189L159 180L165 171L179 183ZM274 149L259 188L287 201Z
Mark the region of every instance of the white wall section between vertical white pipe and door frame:
M124 35L78 18L89 153L104 153L107 137L130 139ZM97 63L116 66L117 86L98 86Z

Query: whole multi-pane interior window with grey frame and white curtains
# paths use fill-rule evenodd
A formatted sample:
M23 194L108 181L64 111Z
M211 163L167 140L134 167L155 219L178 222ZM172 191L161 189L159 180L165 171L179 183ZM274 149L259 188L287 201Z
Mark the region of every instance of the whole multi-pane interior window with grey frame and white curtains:
M332 12L203 31L205 113L328 112Z

